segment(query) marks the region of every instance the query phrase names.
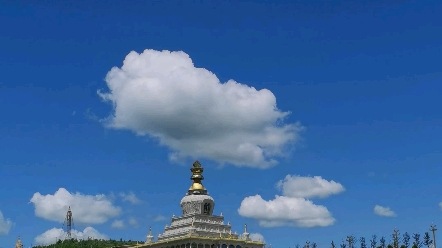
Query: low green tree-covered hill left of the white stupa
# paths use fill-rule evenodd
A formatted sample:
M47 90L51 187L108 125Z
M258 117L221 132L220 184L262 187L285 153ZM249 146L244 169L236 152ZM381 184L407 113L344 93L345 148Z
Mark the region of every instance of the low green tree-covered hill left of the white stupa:
M136 245L137 242L139 244L144 243L144 241L124 241L120 240L98 240L98 239L90 239L90 240L77 240L77 239L69 239L69 240L58 240L57 243L47 246L33 246L33 248L110 248L110 247L123 247L125 245Z

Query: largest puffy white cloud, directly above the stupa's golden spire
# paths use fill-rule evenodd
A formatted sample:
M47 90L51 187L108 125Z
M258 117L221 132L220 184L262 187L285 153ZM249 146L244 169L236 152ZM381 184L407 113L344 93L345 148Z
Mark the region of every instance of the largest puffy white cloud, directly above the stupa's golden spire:
M276 107L271 91L221 83L184 52L130 52L121 68L108 72L106 83L109 92L98 94L113 106L107 126L157 138L172 150L172 160L198 157L268 168L302 130L283 123L289 112Z

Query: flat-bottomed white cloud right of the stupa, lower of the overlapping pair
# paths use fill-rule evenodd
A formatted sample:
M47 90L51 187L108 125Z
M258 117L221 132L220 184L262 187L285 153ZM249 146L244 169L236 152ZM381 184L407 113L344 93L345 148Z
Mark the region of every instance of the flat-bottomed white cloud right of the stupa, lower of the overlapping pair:
M275 196L270 201L265 201L260 195L246 197L238 213L243 217L257 219L263 227L324 227L335 222L326 207L315 205L304 198L286 196Z

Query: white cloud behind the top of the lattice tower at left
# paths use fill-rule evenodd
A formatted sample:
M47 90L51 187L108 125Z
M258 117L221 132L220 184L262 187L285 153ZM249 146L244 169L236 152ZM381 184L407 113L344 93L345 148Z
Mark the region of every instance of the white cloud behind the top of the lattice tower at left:
M121 213L121 209L105 195L71 194L64 188L58 189L53 195L37 192L31 202L36 216L58 222L64 221L69 206L75 224L101 224Z

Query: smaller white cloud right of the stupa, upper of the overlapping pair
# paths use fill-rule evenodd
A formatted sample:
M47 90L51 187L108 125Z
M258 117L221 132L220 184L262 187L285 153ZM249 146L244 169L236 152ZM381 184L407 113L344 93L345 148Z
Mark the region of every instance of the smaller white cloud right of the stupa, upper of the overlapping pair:
M325 198L333 194L342 193L345 188L335 181L327 181L320 176L301 177L287 175L280 180L277 187L282 189L282 194L288 197L299 198Z

